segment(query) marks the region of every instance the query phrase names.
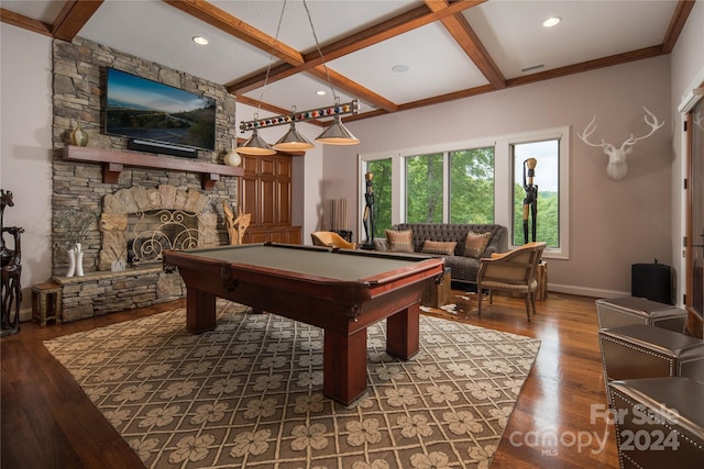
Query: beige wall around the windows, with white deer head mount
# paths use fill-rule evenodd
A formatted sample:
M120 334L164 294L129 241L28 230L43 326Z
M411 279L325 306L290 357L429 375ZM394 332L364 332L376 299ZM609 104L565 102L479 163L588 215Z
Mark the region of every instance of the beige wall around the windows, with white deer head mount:
M570 258L548 259L550 289L594 297L629 294L632 264L672 261L669 63L667 56L656 57L350 122L346 125L362 143L326 147L323 197L358 200L358 154L570 125ZM594 137L620 145L631 133L649 131L642 105L667 123L634 147L628 176L610 180L606 155L586 146L576 132L597 114Z

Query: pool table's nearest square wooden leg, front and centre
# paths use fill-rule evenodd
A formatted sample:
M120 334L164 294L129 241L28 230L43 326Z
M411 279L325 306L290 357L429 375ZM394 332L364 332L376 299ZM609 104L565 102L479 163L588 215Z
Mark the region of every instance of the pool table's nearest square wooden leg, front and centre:
M350 404L366 391L366 328L324 332L322 393Z

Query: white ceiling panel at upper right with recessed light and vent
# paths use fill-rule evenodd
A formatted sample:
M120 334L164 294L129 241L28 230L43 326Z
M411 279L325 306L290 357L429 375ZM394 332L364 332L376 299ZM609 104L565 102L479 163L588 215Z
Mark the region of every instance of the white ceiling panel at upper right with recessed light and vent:
M661 44L675 8L675 1L487 1L463 14L514 78L539 64L547 70ZM542 26L552 15L562 22Z

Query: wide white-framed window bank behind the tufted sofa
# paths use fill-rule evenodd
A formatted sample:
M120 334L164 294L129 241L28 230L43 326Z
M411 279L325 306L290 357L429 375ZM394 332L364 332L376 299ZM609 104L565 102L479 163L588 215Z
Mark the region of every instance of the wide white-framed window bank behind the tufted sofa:
M363 176L371 171L377 237L403 222L497 223L508 227L509 247L522 245L524 168L527 159L535 158L536 239L548 244L546 257L568 258L569 135L569 127L557 127L497 136L491 143L360 155L360 206L364 208ZM531 241L532 219L528 222Z

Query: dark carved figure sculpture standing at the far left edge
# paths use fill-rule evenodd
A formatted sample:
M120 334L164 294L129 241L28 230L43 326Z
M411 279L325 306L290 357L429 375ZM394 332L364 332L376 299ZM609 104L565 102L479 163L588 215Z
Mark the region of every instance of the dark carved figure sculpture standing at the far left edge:
M4 208L14 206L11 191L0 189L0 336L20 332L20 303L22 302L22 233L20 226L4 227ZM12 235L14 245L9 249L4 234ZM14 309L14 316L12 310Z

